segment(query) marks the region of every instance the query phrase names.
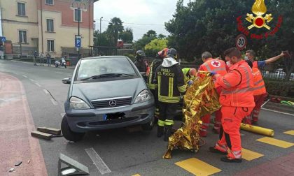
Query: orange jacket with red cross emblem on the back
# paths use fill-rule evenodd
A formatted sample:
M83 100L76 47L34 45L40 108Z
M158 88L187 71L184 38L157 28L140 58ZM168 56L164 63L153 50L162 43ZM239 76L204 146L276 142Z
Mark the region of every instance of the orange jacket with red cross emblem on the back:
M220 75L225 75L227 74L227 67L225 61L210 58L200 66L198 71L215 72ZM216 82L214 83L216 88L220 87Z

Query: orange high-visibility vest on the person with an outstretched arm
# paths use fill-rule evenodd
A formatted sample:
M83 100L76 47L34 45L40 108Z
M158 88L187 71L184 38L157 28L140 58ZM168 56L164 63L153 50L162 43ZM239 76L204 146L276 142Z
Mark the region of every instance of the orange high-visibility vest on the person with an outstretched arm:
M265 89L265 82L262 79L262 75L258 68L252 68L253 72L253 96L255 95L261 95L267 93L267 90Z

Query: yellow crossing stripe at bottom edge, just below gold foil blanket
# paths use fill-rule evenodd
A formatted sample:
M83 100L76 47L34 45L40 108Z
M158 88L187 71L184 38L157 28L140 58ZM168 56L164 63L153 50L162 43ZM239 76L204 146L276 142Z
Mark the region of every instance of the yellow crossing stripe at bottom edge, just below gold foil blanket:
M186 159L175 163L177 166L187 170L193 175L213 175L215 173L221 172L221 169L218 169L214 166L205 163L199 159Z

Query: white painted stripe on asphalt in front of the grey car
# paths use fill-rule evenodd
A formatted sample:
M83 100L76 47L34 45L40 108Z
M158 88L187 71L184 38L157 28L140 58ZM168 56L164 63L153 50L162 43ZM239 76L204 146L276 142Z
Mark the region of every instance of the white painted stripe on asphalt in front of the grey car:
M109 167L106 166L104 161L93 148L85 149L85 152L87 152L87 155L90 156L90 159L92 159L94 165L97 167L97 169L102 175L106 173L111 173Z

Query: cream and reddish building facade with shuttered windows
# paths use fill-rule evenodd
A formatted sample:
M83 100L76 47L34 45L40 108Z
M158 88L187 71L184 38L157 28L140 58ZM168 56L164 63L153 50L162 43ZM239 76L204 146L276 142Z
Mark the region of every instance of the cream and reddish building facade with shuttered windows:
M32 55L37 51L49 52L52 57L76 58L80 15L80 55L89 56L93 5L94 0L0 0L1 36L6 37L7 45L12 43L13 53L8 54Z

